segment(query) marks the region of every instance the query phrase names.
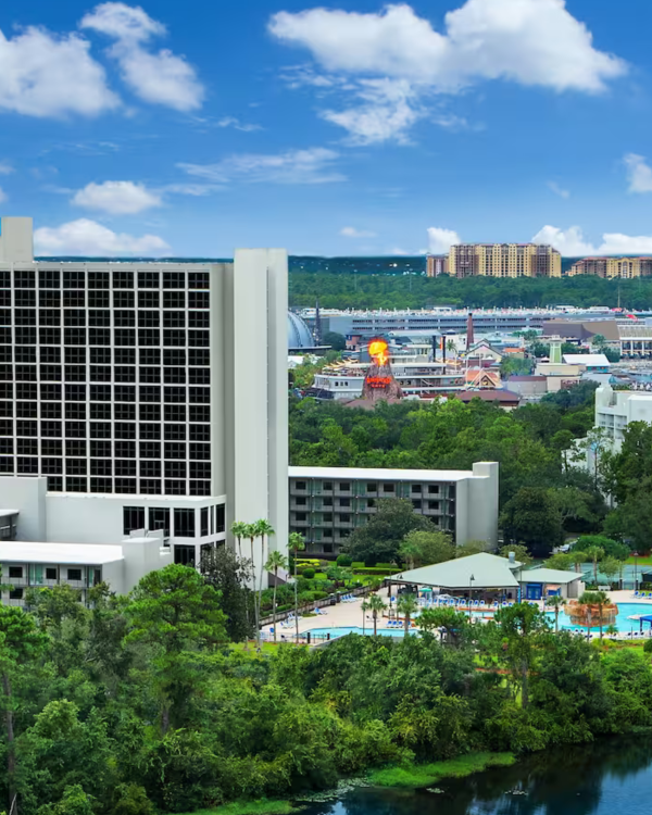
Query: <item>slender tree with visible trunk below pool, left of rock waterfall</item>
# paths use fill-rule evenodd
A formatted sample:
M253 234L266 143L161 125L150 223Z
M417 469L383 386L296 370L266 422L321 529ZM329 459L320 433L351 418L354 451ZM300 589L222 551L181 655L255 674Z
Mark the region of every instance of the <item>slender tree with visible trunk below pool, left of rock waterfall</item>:
M521 704L525 710L529 703L529 672L539 652L541 638L548 632L548 620L530 603L500 609L494 619L505 640L502 659L512 672L513 681L521 685Z

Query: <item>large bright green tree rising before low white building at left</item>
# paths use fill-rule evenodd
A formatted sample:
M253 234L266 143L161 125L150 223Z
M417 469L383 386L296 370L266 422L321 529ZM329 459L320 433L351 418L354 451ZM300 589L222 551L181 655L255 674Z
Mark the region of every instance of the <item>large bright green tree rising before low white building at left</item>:
M202 652L226 639L220 594L195 568L171 564L139 581L125 613L130 620L127 641L151 648L165 736L171 722L181 724L181 711L201 684Z

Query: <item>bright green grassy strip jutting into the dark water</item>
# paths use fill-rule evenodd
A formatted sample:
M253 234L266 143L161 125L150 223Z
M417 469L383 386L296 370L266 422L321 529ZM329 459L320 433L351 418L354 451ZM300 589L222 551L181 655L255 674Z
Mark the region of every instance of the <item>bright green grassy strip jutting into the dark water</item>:
M487 767L509 767L516 761L512 753L469 753L434 764L401 764L369 774L378 787L429 787L442 778L464 778Z

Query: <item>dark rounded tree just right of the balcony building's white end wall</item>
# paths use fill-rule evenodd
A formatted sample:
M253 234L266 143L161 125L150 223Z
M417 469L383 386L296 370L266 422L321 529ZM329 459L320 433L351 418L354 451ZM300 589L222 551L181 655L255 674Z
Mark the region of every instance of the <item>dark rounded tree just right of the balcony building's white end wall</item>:
M523 541L535 554L548 554L563 540L562 518L548 490L523 487L505 504L500 524L512 542Z

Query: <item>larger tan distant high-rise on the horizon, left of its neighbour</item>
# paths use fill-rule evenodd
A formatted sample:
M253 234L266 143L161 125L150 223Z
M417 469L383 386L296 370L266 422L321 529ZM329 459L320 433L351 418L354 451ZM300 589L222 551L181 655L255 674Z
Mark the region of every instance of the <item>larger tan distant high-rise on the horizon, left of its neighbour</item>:
M562 255L542 243L459 243L451 247L452 277L561 277Z

